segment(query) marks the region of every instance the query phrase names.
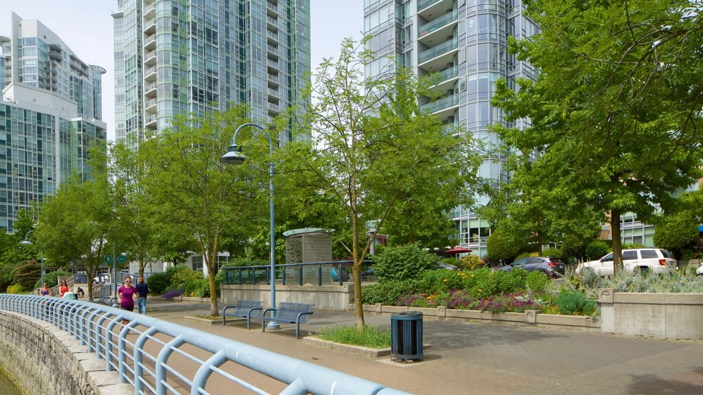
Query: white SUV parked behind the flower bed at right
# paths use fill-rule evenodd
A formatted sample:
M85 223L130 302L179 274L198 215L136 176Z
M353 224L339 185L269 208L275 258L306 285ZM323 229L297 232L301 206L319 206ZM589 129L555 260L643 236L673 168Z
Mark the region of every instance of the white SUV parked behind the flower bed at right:
M622 261L626 271L664 273L677 271L676 259L671 252L661 248L638 248L622 250ZM613 275L613 253L607 254L598 261L583 262L576 267L576 274L581 274L586 268L595 271L599 276Z

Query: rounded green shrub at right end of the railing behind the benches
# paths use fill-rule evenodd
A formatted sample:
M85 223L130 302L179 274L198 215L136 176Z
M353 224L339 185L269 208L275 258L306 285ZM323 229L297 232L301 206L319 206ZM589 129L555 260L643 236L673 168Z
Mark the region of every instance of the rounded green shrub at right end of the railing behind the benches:
M437 256L420 249L418 244L386 247L373 257L373 273L380 282L418 278L437 264Z

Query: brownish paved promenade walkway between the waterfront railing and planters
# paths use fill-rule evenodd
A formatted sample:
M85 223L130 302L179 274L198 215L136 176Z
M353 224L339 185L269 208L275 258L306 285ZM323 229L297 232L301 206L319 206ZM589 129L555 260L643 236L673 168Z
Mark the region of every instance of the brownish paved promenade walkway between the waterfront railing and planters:
M643 339L566 330L423 320L425 360L356 356L295 339L295 325L261 332L260 321L210 325L185 316L209 303L148 302L149 315L323 365L413 394L703 394L703 342ZM220 309L222 306L219 306ZM389 315L365 314L390 325ZM315 311L301 336L352 325L354 313Z

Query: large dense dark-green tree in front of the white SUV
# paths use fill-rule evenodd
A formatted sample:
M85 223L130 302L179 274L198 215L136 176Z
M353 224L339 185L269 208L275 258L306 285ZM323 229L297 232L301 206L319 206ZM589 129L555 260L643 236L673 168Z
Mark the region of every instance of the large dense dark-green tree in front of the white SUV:
M527 14L542 31L510 51L540 75L519 90L498 82L493 104L531 127L494 130L517 148L534 194L610 215L617 271L620 215L647 221L700 177L701 14L688 0L534 0Z

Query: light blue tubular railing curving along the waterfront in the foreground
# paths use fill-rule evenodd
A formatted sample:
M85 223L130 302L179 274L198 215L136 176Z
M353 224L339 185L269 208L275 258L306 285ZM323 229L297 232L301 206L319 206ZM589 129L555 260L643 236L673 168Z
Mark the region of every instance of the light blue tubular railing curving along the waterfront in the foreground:
M0 294L0 309L56 325L119 373L134 394L269 394L243 368L271 377L280 394L375 394L406 392L249 344L101 304L80 300ZM120 321L129 320L122 326ZM264 385L262 375L254 380ZM211 384L205 390L208 382ZM222 384L224 380L224 385ZM115 383L117 384L117 383Z

